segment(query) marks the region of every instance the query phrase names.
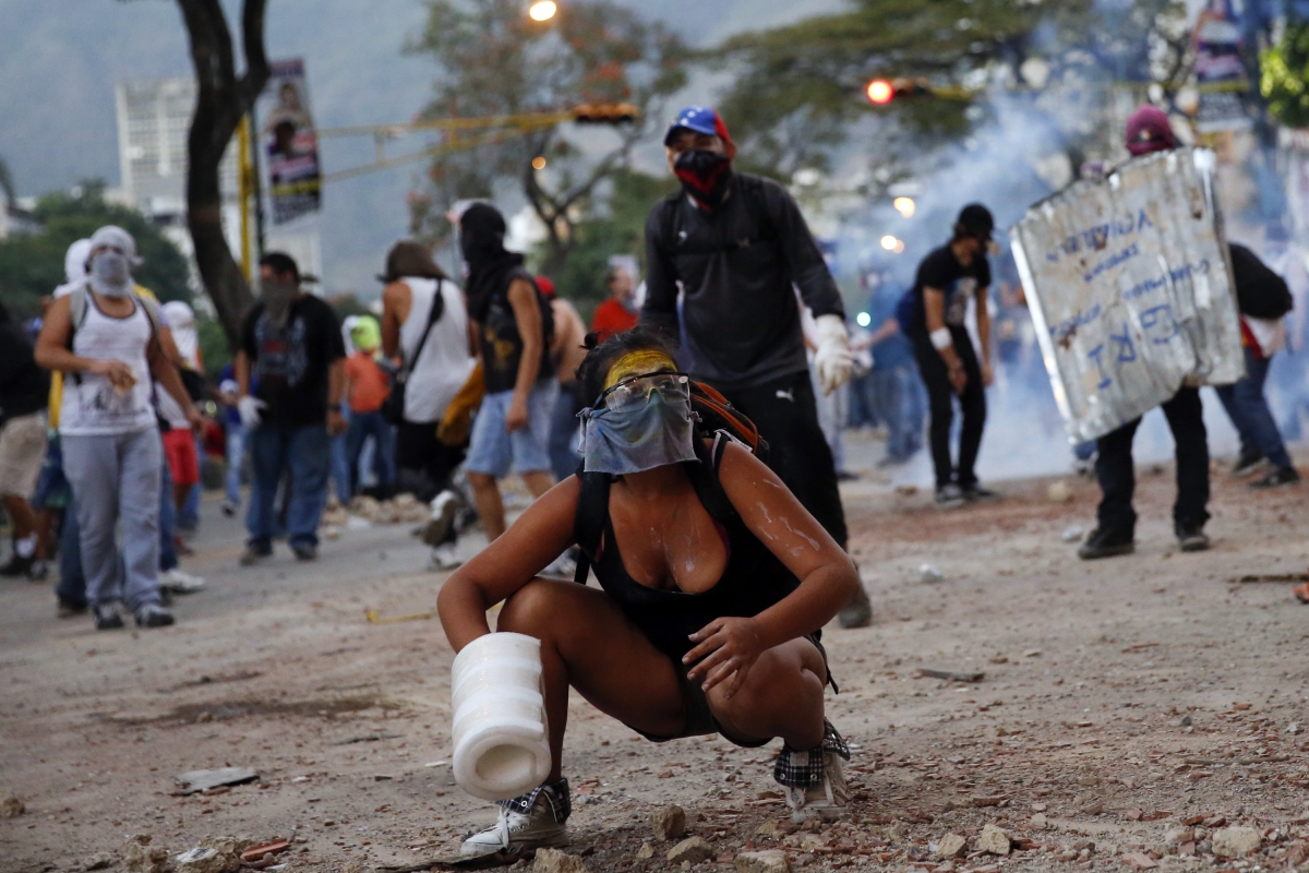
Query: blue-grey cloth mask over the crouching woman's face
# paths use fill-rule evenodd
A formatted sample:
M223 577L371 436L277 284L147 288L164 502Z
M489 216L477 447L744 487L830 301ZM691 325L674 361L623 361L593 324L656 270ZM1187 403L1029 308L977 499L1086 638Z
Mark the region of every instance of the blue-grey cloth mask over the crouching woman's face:
M695 461L691 399L682 390L652 390L644 403L583 410L586 472L622 476Z

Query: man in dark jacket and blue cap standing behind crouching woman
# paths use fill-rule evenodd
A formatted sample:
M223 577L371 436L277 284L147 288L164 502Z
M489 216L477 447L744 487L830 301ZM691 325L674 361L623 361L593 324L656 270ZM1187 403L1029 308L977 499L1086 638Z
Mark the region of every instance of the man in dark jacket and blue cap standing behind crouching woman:
M836 283L787 190L732 170L736 144L716 111L683 109L664 145L682 190L645 223L641 322L685 338L691 376L755 423L768 444L763 459L844 548L846 513L818 427L796 298L798 289L817 322L814 365L830 394L850 378L852 363ZM860 592L842 624L869 620Z

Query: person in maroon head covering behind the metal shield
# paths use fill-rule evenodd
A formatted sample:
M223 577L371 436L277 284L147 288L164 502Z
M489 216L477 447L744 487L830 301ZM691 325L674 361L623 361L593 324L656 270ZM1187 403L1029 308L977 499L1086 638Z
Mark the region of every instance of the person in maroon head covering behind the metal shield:
M1162 110L1141 106L1127 119L1127 151L1132 157L1173 148L1177 148L1177 140ZM1210 520L1210 446L1200 389L1183 385L1161 408L1177 445L1173 531L1182 551L1204 551L1210 547L1210 538L1204 534L1204 522ZM1127 555L1135 548L1132 437L1140 423L1140 419L1132 419L1097 440L1096 476L1103 497L1097 510L1096 530L1077 550L1079 558L1090 560Z

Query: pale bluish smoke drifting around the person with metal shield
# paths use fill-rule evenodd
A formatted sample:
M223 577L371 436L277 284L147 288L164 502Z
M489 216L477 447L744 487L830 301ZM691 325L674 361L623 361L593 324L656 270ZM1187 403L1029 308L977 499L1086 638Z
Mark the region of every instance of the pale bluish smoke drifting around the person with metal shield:
M1012 272L1008 228L1028 208L1062 188L1073 178L1072 143L1088 141L1086 126L1094 118L1126 118L1130 97L1101 98L1100 105L1085 99L1043 99L1029 94L994 88L975 119L971 134L957 143L940 144L929 139L912 143L919 154L911 181L890 185L890 195L907 195L915 200L911 217L890 205L890 198L848 216L836 236L838 272L848 288L859 276L878 274L893 293L911 287L919 260L945 245L959 209L969 203L987 205L996 219L996 241L1001 254L991 258L992 325L997 321L999 287L1017 283ZM1121 103L1121 105L1119 105ZM1118 130L1122 124L1118 124ZM1107 132L1098 131L1109 141ZM1117 139L1117 137L1114 137ZM1092 140L1093 141L1093 140ZM1119 151L1121 147L1118 147ZM1090 158L1114 158L1089 154ZM1126 152L1122 151L1122 157ZM903 251L895 254L882 245L884 237L895 237ZM861 288L850 300L851 310L868 304L869 289ZM885 293L885 292L884 292ZM1064 431L1063 419L1054 403L1049 377L1035 346L1028 313L1021 306L1009 314L1017 329L1017 351L1011 346L1001 356L992 343L995 385L987 391L988 415L978 474L984 480L1011 479L1068 472L1073 466L1073 446ZM975 314L969 314L969 327L977 343ZM1206 425L1210 450L1223 455L1236 452L1237 437L1230 421L1211 389L1204 393ZM957 411L957 407L956 407ZM956 415L956 433L958 415ZM956 442L957 445L957 442ZM1162 462L1173 457L1173 440L1162 414L1148 414L1136 435L1134 457L1138 463ZM895 482L918 486L932 484L928 452L899 467Z

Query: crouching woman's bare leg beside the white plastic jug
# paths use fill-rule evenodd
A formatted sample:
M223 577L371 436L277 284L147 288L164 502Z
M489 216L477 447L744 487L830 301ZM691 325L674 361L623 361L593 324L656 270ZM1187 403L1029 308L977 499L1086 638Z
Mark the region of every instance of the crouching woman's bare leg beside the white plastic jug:
M538 579L505 601L496 630L541 640L550 781L562 775L569 686L601 712L649 734L674 736L686 724L673 661L603 592ZM821 738L821 720L818 730Z

